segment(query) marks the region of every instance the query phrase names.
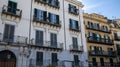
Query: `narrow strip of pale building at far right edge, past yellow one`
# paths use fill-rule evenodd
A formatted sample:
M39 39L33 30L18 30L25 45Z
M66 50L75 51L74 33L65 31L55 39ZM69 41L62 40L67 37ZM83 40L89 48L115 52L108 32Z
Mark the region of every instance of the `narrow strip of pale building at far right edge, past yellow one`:
M120 19L109 20L112 35L114 37L114 47L116 50L116 61L120 62Z

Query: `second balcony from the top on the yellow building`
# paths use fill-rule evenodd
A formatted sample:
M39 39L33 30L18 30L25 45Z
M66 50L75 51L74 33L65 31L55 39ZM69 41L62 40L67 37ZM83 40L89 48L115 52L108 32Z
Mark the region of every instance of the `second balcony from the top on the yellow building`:
M97 43L97 44L107 44L113 45L113 40L111 39L104 39L104 38L97 38L97 37L88 37L88 42L90 43Z

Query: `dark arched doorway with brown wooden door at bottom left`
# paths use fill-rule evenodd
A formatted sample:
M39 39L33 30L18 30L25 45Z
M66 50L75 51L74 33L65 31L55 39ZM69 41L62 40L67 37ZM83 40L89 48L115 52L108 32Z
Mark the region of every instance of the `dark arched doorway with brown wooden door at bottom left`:
M1 51L0 67L16 67L16 56L11 51Z

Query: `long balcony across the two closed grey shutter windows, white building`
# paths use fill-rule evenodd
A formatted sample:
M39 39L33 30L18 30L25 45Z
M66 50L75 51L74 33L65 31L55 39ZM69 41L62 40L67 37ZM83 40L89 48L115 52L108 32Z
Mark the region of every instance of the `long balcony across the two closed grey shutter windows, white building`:
M51 42L51 41L39 41L35 42L35 39L31 40L31 47L46 49L46 50L58 50L61 51L63 49L63 43L59 42Z

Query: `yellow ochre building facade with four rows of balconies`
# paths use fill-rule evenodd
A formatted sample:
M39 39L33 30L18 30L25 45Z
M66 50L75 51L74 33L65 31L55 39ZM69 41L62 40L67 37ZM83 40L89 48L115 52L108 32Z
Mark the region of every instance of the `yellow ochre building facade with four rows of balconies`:
M84 25L89 66L114 66L116 53L108 19L99 14L84 13Z

